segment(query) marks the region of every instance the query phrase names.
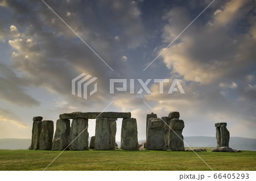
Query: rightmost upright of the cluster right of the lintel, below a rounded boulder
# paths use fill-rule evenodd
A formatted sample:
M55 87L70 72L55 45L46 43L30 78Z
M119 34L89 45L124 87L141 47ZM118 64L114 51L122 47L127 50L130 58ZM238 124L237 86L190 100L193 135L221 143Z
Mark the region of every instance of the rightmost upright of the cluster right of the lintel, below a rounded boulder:
M169 114L170 117L170 114ZM175 117L170 121L170 130L169 130L169 148L173 151L184 151L184 142L182 131L185 127L184 121Z

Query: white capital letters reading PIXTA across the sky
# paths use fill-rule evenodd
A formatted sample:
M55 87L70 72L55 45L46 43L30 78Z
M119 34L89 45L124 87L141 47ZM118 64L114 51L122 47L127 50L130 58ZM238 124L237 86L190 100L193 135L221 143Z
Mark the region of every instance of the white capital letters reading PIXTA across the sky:
M150 89L148 89L147 85L148 83L150 83L152 81L152 79L147 79L145 82L142 81L142 79L137 79L137 81L139 82L139 85L141 86L141 89L139 89L139 91L137 92L137 94L142 94L143 90L147 93L147 94L152 94L152 92L150 91ZM130 94L135 94L135 89L134 89L134 83L135 79L130 79L129 83L130 83ZM110 94L114 94L114 86L115 83L122 83L122 87L115 87L115 89L117 91L127 91L127 79L110 79ZM164 83L169 83L169 79L154 79L154 83L159 83L159 94L163 94L163 90L164 90ZM170 86L170 89L168 91L168 94L172 94L172 92L174 91L178 91L177 88L180 91L180 94L185 94L183 87L180 84L179 79L174 79L172 81L172 84Z

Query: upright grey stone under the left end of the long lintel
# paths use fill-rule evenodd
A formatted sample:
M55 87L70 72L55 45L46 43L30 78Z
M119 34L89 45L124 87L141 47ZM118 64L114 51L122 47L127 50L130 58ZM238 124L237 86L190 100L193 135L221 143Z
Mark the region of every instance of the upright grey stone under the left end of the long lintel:
M70 139L70 120L58 119L56 130L52 142L52 150L64 150L69 145ZM68 150L68 148L67 148Z

